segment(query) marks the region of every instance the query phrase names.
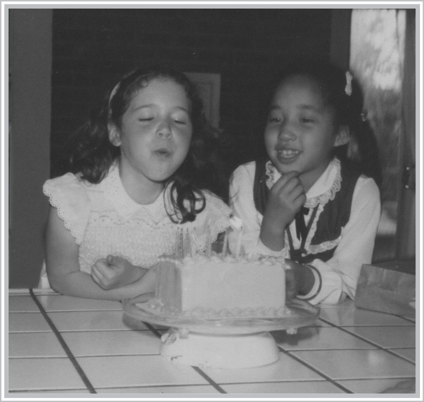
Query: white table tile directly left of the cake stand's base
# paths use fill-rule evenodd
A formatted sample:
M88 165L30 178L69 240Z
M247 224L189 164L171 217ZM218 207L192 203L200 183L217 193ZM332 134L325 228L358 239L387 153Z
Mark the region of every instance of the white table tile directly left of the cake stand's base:
M74 356L159 354L160 339L150 331L63 332L62 336Z

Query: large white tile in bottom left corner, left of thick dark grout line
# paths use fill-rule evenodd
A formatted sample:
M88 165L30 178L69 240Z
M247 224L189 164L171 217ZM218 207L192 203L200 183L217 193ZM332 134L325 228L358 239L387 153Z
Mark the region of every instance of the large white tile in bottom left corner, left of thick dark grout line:
M9 390L86 388L68 358L9 360Z

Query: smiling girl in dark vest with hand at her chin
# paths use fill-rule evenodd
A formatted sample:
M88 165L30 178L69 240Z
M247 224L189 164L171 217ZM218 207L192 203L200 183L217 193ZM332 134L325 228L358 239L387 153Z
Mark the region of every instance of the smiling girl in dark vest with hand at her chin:
M230 246L287 258L288 299L354 299L380 218L378 157L359 88L334 66L294 64L269 105L267 156L239 166L231 179L242 227Z

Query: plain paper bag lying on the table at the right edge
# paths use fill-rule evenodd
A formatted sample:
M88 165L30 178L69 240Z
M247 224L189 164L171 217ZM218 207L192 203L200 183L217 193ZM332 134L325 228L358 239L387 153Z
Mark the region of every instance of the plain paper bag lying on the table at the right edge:
M390 267L362 265L355 306L414 318L415 275Z

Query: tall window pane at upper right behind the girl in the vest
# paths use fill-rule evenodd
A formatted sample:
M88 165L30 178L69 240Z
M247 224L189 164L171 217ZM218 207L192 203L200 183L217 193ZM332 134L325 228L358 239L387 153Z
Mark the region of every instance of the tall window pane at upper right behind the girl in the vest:
M383 175L382 216L374 260L396 256L405 146L402 126L405 27L405 10L352 11L350 69L363 90L364 107L376 136Z

